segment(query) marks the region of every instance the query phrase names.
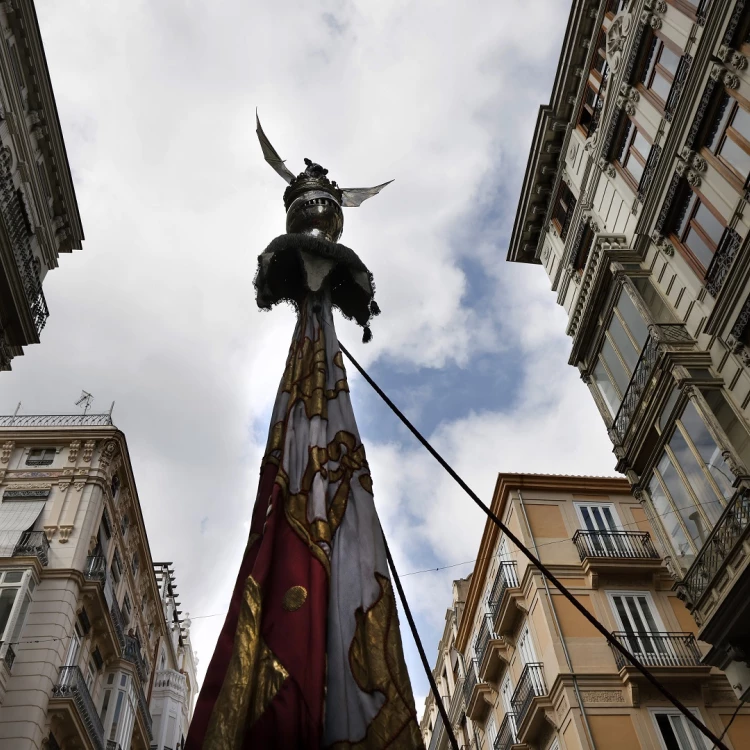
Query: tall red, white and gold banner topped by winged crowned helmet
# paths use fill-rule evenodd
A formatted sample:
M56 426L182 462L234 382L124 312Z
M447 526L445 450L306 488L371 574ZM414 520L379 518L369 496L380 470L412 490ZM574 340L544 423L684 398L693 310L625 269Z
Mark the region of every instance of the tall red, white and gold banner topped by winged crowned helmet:
M186 750L413 750L423 742L372 478L333 308L371 337L372 274L338 239L342 208L388 183L340 188L285 166L287 233L258 258L259 307L298 313L273 408L250 536Z

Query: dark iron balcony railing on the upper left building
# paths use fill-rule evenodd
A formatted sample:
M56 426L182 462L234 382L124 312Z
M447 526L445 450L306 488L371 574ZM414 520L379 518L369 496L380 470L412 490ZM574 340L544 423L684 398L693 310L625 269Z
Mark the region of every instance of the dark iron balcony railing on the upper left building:
M30 216L24 201L23 194L13 183L7 158L0 159L0 216L10 240L34 329L39 336L49 317L49 310L42 292L42 282L34 268Z

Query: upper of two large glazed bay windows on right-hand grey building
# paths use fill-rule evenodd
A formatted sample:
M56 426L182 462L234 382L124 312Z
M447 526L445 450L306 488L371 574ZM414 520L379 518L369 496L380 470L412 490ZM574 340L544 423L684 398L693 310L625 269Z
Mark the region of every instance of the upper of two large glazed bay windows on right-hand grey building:
M600 326L604 319L600 320ZM614 307L592 378L614 418L648 338L646 322L625 289Z

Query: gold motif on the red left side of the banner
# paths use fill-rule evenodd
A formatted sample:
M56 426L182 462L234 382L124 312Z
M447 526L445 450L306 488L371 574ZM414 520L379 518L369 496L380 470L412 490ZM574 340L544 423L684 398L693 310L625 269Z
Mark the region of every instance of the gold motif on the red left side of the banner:
M263 714L289 673L260 636L261 591L248 576L232 657L211 712L203 750L240 750L246 729Z

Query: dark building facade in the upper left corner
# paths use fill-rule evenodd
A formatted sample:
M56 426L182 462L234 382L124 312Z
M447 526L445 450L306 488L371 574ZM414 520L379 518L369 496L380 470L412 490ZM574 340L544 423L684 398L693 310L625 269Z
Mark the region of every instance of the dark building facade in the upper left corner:
M39 343L42 284L83 228L33 0L0 3L0 370Z

